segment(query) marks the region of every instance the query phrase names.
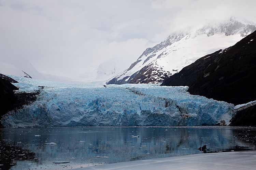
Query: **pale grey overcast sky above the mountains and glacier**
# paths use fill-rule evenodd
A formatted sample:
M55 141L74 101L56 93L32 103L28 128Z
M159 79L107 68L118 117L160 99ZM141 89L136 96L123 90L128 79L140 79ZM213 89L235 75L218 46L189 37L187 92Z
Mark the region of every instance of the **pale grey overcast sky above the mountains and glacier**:
M126 69L174 30L230 16L255 0L0 0L1 58L72 77L115 58Z

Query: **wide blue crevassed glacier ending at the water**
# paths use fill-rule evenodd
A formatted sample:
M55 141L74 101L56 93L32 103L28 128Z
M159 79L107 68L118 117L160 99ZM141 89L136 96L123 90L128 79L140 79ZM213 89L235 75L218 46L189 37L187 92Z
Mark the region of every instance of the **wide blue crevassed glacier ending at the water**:
M41 89L37 101L1 119L5 128L43 126L179 126L227 123L233 104L156 84L64 84L14 77L18 92Z

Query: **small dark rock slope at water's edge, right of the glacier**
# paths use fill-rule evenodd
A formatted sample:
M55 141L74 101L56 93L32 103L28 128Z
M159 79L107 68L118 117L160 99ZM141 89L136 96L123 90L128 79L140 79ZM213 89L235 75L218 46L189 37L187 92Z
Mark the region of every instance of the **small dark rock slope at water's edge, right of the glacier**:
M230 126L256 126L256 105L247 107L231 119Z

